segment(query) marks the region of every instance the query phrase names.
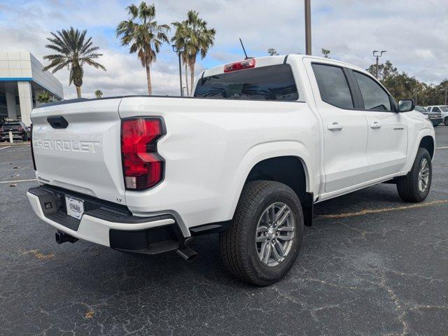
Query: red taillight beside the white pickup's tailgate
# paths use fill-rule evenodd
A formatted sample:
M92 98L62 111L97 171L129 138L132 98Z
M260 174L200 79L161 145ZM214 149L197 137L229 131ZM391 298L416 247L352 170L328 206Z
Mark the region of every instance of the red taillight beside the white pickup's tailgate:
M125 186L144 190L163 179L164 161L157 141L165 134L161 118L132 118L121 123L121 154Z

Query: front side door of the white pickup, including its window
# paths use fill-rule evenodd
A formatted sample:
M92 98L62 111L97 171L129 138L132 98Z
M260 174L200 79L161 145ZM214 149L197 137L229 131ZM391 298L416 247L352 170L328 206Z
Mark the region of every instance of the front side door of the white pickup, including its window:
M359 71L352 73L354 90L359 90L367 115L369 180L400 172L407 153L405 116L395 112L393 99L377 80Z

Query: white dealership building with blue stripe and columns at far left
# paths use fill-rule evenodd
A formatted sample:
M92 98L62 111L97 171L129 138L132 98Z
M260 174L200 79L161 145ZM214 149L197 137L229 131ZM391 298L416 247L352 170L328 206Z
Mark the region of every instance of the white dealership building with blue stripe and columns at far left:
M39 93L47 91L51 101L64 98L62 83L30 52L0 51L0 121L22 120L31 125L31 110Z

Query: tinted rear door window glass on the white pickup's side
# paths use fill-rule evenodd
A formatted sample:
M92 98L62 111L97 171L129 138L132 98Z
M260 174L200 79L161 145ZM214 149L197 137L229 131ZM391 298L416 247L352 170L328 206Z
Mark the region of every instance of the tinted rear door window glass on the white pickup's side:
M312 64L323 102L341 109L353 109L349 83L339 66Z

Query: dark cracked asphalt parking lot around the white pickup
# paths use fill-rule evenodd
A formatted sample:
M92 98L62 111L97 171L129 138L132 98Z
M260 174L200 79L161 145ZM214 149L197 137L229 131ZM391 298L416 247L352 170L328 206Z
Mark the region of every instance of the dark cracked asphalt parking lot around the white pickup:
M381 184L316 205L299 259L267 288L224 269L216 235L193 242L193 263L57 245L25 195L29 148L1 146L0 335L447 336L448 127L436 135L426 202Z

